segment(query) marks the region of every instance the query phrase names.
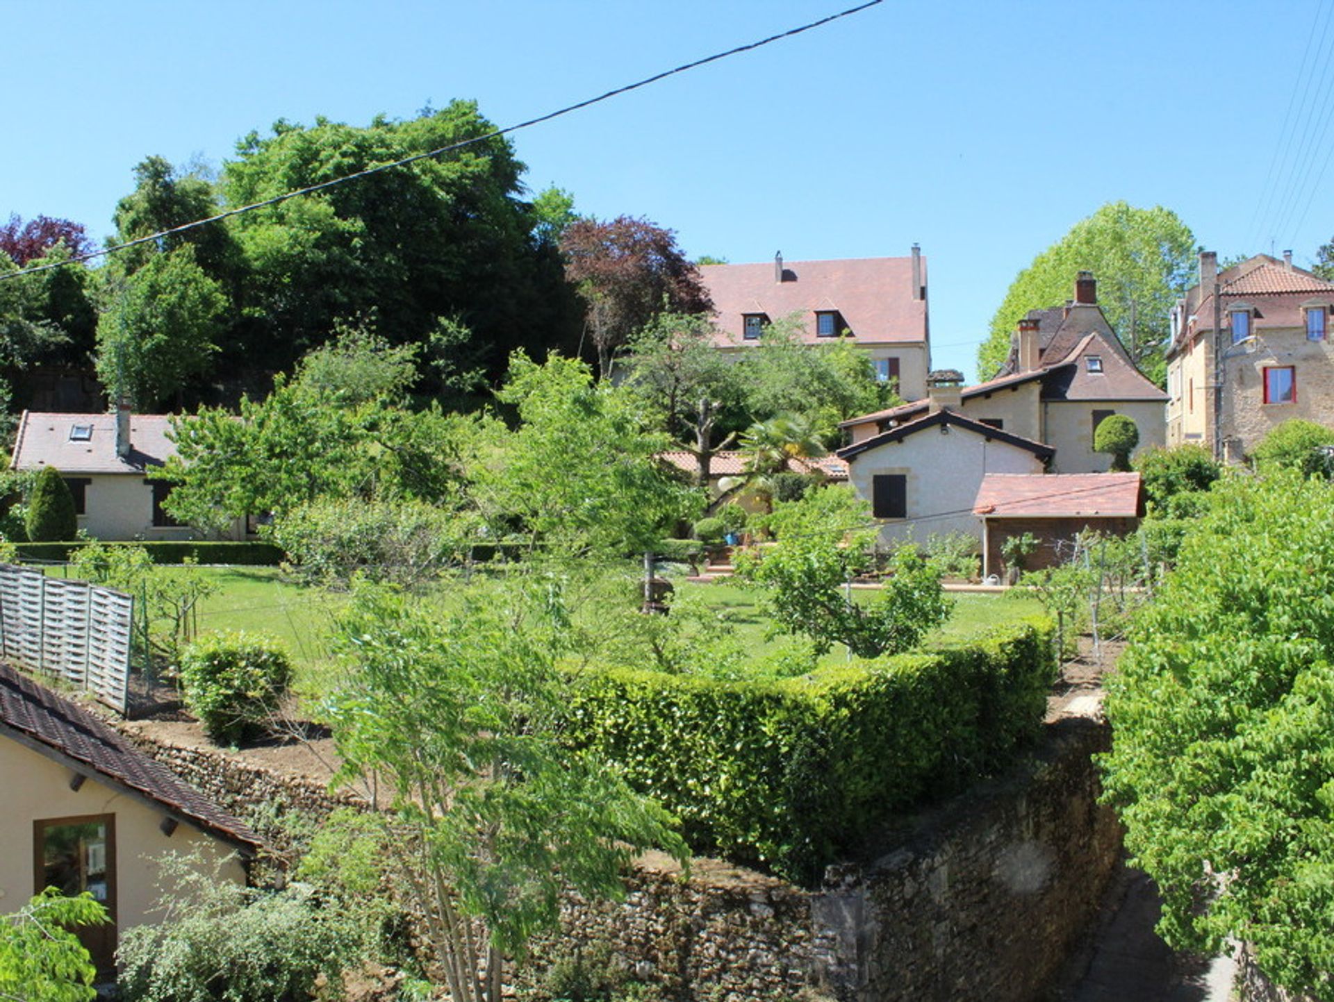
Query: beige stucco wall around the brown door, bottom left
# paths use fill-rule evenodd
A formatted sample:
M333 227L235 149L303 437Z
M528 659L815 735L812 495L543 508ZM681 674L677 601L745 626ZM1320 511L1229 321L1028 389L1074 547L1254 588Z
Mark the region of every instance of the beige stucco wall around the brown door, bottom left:
M23 907L37 887L33 871L33 821L115 814L117 926L155 921L157 898L155 857L199 847L207 861L229 861L224 878L244 882L245 870L225 842L181 823L171 837L159 825L167 810L148 807L97 779L69 789L73 773L16 741L0 737L0 911Z

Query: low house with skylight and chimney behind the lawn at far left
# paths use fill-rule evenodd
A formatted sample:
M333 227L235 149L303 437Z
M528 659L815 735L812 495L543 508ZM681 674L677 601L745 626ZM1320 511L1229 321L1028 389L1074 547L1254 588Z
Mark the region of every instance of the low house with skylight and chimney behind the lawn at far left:
M176 454L168 414L132 414L128 406L103 414L24 410L13 458L17 470L55 466L75 498L79 528L96 540L197 540L163 509L171 484L147 473ZM224 538L244 540L237 520Z

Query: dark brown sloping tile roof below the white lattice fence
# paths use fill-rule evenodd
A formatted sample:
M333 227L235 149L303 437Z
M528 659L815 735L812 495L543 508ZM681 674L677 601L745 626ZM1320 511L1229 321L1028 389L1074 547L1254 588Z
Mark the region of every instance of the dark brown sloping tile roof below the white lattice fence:
M0 664L0 737L85 767L228 842L260 843L245 825L76 704Z

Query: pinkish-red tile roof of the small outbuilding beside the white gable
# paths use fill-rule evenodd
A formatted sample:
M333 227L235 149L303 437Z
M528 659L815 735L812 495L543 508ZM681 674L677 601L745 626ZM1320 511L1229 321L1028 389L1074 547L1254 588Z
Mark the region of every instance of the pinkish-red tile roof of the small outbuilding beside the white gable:
M987 518L1134 518L1143 514L1138 473L987 473L972 513Z

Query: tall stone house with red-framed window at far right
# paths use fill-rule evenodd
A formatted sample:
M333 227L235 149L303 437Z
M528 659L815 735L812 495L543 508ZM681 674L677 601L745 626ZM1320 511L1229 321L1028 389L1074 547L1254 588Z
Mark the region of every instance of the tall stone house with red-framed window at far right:
M1222 272L1199 254L1199 281L1171 313L1167 444L1239 461L1275 425L1334 425L1334 282L1257 254Z

